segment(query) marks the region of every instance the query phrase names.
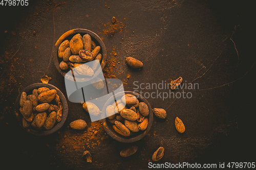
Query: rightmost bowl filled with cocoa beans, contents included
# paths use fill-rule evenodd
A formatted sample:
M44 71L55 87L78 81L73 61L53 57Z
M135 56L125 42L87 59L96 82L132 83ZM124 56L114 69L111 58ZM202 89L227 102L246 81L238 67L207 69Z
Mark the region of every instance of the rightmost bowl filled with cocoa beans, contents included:
M140 94L124 91L112 96L102 109L103 127L112 138L120 142L135 142L143 138L153 124L150 103ZM113 102L113 99L118 99Z

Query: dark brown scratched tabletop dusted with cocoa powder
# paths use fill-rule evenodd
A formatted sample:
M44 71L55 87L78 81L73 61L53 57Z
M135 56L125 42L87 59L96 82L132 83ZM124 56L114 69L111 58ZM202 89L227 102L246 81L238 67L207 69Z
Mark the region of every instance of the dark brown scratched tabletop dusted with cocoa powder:
M147 169L160 146L165 151L158 163L219 165L255 161L252 7L253 4L241 1L78 0L29 1L27 7L0 6L0 140L4 157L0 166ZM113 16L123 22L124 28L110 38L102 30ZM95 149L87 148L83 140L75 149L68 145L61 149L67 138L83 134L72 131L68 127L71 122L84 119L87 128L91 127L90 117L80 104L68 102L66 123L49 136L28 134L15 121L14 103L19 92L40 82L44 75L51 77L49 83L67 98L64 78L54 66L52 55L57 39L76 28L100 34L108 56L115 48L114 75L120 80L131 75L124 85L126 91L135 90L134 81L161 83L182 77L183 84L199 84L199 89L184 90L193 93L191 99L147 99L152 108L165 109L167 117L154 117L148 135L133 143L139 148L130 157L119 155L127 143L117 142L103 131L98 132L102 139ZM143 61L143 68L131 69L125 64L125 57ZM185 125L183 134L175 129L176 116ZM65 134L67 138L63 137ZM92 163L82 157L85 150L91 152Z

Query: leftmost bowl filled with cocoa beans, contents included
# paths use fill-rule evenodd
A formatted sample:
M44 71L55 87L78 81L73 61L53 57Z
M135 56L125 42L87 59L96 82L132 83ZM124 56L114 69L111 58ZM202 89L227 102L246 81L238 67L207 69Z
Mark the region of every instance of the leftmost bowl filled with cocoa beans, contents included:
M34 135L50 135L59 130L68 116L63 93L51 84L35 83L17 97L15 116L19 125Z

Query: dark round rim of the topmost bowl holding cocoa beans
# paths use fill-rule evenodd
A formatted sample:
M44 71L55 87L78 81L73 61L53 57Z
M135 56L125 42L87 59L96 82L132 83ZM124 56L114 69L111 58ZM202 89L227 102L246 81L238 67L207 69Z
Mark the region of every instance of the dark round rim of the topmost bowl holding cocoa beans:
M81 79L81 78L76 78L76 81L77 82L86 82L86 81L90 81L92 80L94 77L98 76L99 73L100 73L100 69L103 69L105 67L105 63L106 63L106 47L105 47L105 44L104 42L102 41L102 39L94 32L90 31L90 30L87 30L87 29L73 29L73 30L69 30L67 31L66 33L62 34L59 39L56 41L55 45L54 45L54 48L53 48L53 62L54 62L54 65L55 67L57 68L57 70L59 71L59 73L65 77L67 72L65 70L61 70L59 68L59 61L58 61L58 48L59 48L59 45L61 42L63 42L63 40L65 40L68 36L72 35L72 34L89 34L90 36L92 36L93 38L96 39L96 41L99 43L100 45L100 48L102 50L102 61L101 61L101 64L95 72L94 72L94 76L92 76L91 78L86 78L86 79ZM71 81L73 81L73 76L67 76L65 77Z

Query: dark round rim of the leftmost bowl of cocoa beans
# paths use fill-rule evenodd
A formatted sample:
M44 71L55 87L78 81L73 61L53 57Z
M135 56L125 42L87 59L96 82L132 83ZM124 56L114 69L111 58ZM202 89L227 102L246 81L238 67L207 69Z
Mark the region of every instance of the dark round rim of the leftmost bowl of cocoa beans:
M52 129L50 130L45 130L45 131L41 131L41 130L35 130L30 129L30 128L24 128L22 125L22 114L19 113L19 99L20 99L20 95L22 94L23 91L25 91L26 93L29 92L30 90L33 90L35 88L40 88L40 87L48 87L49 89L55 89L57 91L57 94L59 95L59 98L62 102L63 105L63 112L62 112L62 118L60 120L60 122L54 126ZM67 99L65 98L65 95L54 85L51 84L46 84L46 83L35 83L35 84L31 84L29 86L27 86L26 88L24 88L19 95L17 96L16 102L15 102L15 111L14 111L14 115L17 119L17 122L19 123L20 127L22 127L25 131L33 134L33 135L38 135L38 136L46 136L46 135L50 135L56 131L58 131L63 124L66 122L66 119L68 117L68 103L67 103ZM18 116L17 116L18 115Z

